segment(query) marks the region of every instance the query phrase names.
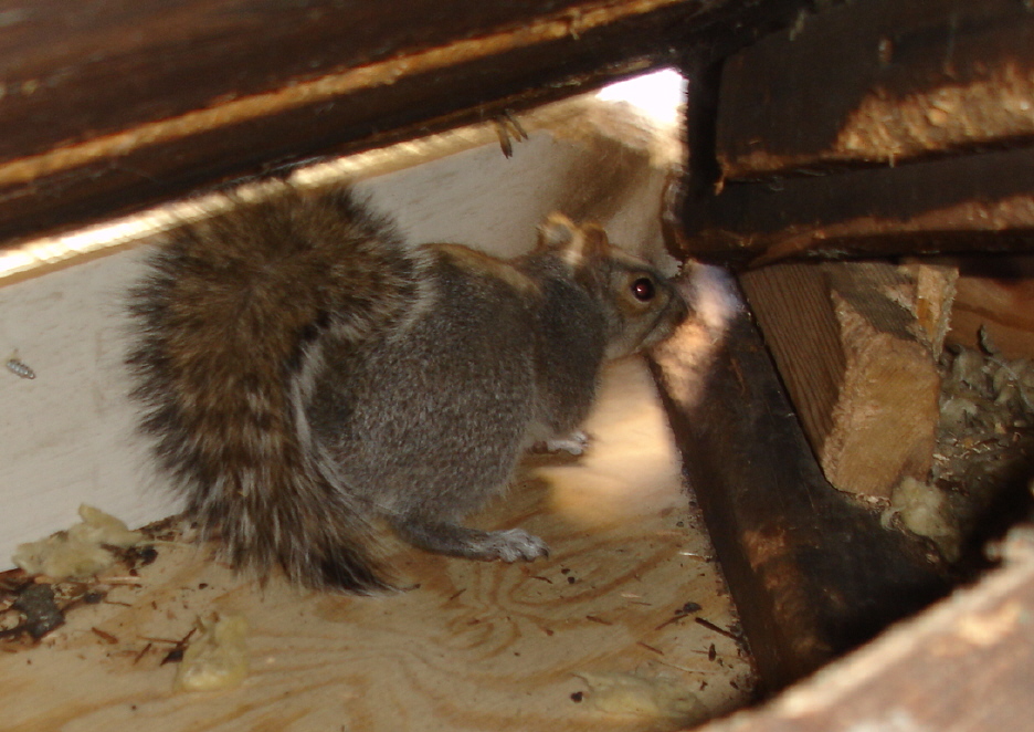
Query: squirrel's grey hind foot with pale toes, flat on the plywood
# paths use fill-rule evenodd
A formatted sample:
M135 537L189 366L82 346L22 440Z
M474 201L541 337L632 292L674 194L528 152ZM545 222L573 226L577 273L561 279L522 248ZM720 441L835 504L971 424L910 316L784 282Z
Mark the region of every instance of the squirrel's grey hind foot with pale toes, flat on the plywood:
M534 562L549 556L549 547L523 529L479 531L452 523L393 522L399 535L422 550L483 562Z

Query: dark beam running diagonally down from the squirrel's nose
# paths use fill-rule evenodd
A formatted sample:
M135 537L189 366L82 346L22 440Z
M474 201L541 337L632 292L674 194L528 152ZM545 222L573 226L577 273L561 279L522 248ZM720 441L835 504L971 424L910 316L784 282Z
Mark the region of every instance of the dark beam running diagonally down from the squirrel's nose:
M686 328L653 368L762 682L810 673L946 589L924 547L822 477L749 315L710 368Z

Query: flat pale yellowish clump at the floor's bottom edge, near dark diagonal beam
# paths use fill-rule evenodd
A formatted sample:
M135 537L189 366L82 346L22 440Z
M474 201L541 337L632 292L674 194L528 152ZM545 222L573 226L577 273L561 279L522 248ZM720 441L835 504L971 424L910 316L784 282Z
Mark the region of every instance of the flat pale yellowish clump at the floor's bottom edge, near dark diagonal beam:
M622 671L582 671L574 676L589 687L581 699L604 714L639 717L661 723L655 729L682 729L709 715L696 694L674 679Z

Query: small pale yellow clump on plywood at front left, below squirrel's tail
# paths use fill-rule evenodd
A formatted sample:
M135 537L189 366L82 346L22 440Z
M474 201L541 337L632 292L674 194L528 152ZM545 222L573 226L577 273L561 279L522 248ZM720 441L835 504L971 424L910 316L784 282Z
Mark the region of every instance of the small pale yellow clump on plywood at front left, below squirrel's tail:
M201 636L183 652L176 671L177 691L217 691L239 687L247 676L247 620L226 615L201 626Z

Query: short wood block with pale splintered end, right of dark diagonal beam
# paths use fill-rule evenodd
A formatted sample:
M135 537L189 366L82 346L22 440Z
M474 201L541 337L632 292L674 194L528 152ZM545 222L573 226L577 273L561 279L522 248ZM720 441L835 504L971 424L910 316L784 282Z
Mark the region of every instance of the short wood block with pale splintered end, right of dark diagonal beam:
M780 264L746 273L742 284L826 480L876 498L904 478L925 480L951 273Z

